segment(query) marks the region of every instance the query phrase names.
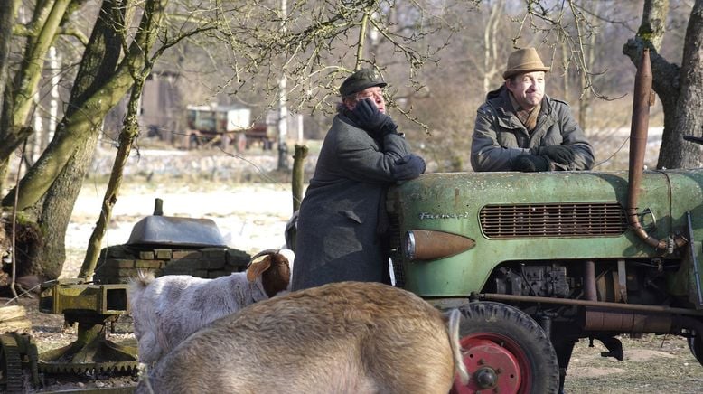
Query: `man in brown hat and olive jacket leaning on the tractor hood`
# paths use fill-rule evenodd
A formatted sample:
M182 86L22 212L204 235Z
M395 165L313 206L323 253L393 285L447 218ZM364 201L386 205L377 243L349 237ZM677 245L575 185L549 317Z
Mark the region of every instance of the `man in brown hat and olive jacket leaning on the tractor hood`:
M544 93L549 70L534 48L512 52L505 83L486 96L473 127L474 171L593 168L593 147L566 102Z

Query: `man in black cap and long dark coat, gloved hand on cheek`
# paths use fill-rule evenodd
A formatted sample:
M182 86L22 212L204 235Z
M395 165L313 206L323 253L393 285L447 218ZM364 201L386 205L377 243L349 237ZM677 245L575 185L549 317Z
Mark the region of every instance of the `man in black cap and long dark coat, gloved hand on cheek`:
M339 89L342 102L300 206L293 290L346 280L390 283L386 191L424 173L425 162L387 115L385 86L377 70L361 69Z

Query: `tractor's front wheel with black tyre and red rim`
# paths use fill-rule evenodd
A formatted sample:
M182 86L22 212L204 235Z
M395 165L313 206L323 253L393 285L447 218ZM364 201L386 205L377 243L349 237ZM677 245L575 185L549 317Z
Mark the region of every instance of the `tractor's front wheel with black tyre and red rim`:
M464 364L471 375L452 393L556 393L557 353L542 328L510 305L476 302L460 308L459 336Z

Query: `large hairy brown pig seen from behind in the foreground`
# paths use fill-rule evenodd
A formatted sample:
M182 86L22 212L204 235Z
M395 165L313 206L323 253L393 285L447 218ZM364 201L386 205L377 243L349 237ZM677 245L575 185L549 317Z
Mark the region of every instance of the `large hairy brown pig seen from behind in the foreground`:
M398 287L339 282L277 296L192 334L144 393L446 394L468 373L459 319Z

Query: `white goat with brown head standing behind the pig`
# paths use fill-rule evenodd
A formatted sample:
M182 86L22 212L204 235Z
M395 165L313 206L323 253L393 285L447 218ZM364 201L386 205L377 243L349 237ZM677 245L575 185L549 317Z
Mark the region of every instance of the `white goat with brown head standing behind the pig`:
M267 249L227 277L140 273L128 290L139 361L155 362L213 320L288 291L292 264L292 251Z

